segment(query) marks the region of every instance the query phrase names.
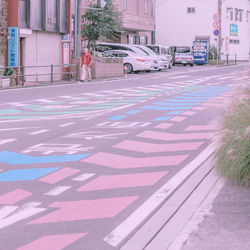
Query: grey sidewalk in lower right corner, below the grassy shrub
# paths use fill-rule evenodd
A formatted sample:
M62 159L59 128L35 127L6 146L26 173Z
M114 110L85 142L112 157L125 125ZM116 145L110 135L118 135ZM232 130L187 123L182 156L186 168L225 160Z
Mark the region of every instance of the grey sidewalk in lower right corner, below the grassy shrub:
M209 195L213 195L213 192L216 191L212 190ZM194 214L191 221L196 215ZM187 227L188 225L182 234ZM250 188L236 187L229 183L222 187L208 215L181 248L181 250L196 249L250 249Z

